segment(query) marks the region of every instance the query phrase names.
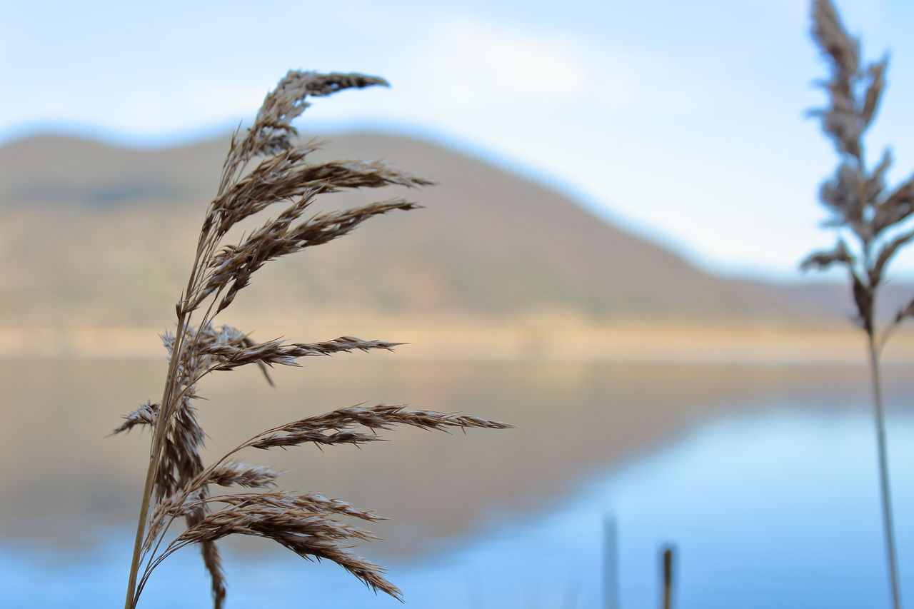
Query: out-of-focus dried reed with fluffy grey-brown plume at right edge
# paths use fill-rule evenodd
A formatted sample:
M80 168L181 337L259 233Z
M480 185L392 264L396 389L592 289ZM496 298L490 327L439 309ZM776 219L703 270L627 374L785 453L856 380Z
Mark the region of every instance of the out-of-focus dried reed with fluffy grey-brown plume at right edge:
M850 277L856 305L856 325L866 334L873 385L879 480L885 533L888 579L893 605L901 606L898 560L888 475L886 417L883 410L879 357L888 338L906 318L914 316L914 300L887 322L879 323L876 301L886 281L889 262L914 240L909 219L914 211L914 176L887 187L892 157L884 151L874 166L866 162L864 135L873 124L885 88L888 58L863 65L859 41L847 35L829 0L813 2L813 39L831 68L822 87L828 105L813 114L839 156L834 176L822 185L819 198L832 217L825 225L838 233L831 251L816 251L802 262L803 269L844 267Z

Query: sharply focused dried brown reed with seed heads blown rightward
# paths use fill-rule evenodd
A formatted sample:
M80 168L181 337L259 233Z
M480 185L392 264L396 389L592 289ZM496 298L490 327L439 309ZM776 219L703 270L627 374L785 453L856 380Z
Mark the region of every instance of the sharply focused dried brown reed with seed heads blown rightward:
M381 163L311 164L307 157L320 144L294 140L297 132L292 120L310 105L306 98L386 84L361 74L290 71L267 95L250 130L232 137L216 198L207 209L200 231L186 289L175 307L175 332L163 337L169 365L162 399L157 403L149 401L126 415L115 430L124 432L137 425L152 428L126 609L136 606L157 565L192 544L200 548L211 577L214 607L222 607L226 582L216 541L231 534L267 538L303 558L334 561L374 591L400 598L397 587L384 579L381 567L346 550L353 540L376 538L340 518L370 522L377 516L338 499L274 490L276 472L241 463L235 460L236 454L248 448L284 448L304 443L370 443L378 440L378 431L397 425L427 430L510 427L502 422L409 410L399 405L358 405L257 433L212 465L205 465L201 457L205 435L197 422L193 401L198 397L197 383L208 374L251 364L266 373L276 364L297 366L297 358L356 349L390 350L400 344L353 337L321 343L258 343L235 328L213 323L266 262L342 237L375 216L419 207L405 199L395 199L305 216L315 198L324 193L432 184ZM262 158L254 165L256 157ZM229 231L240 221L276 204L284 208L275 219L267 219L236 242L226 242ZM213 486L266 490L215 495L211 493ZM186 528L169 540L168 529L179 518L184 518Z

